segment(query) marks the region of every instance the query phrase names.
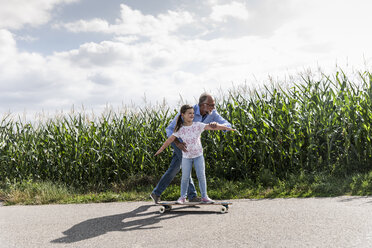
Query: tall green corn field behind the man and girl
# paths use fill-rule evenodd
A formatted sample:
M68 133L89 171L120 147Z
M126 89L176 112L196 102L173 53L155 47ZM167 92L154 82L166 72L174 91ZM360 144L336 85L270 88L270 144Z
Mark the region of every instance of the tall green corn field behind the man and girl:
M290 87L230 91L218 112L239 133L202 135L208 178L260 180L263 171L285 179L300 172L346 175L372 164L372 76L358 82L337 72L302 77ZM40 125L0 123L0 181L50 180L79 187L108 186L130 176L156 178L172 152L154 153L178 109L110 112L89 121L67 115Z

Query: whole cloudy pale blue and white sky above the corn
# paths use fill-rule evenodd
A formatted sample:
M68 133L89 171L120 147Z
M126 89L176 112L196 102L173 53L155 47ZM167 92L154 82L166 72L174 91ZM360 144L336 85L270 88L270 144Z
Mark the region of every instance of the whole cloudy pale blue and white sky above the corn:
M369 70L369 0L0 0L0 118Z

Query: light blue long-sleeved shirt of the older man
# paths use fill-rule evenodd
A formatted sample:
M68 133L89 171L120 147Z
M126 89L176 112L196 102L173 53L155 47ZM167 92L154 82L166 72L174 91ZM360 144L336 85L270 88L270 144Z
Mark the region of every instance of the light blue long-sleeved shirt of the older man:
M177 118L178 118L179 115L180 115L180 113L178 113L176 115L176 117L174 117L172 122L165 129L166 132L167 132L167 137L168 138L172 135L172 133L174 131L174 128L176 127ZM210 115L207 115L205 117L205 119L203 120L203 116L200 114L199 104L196 104L194 106L194 120L193 120L193 122L203 122L205 124L209 124L211 122L217 122L218 124L221 124L221 125L224 125L224 126L227 126L227 127L231 127L231 124L227 120L225 120L222 116L220 116L220 114L217 112L216 109L213 109L212 113Z

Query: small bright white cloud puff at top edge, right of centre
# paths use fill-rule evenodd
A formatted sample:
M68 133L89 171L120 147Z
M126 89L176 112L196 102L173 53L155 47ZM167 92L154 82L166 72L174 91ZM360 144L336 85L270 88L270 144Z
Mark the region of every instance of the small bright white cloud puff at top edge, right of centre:
M212 6L210 18L216 22L226 22L228 18L248 20L249 11L245 4L232 2L230 4Z

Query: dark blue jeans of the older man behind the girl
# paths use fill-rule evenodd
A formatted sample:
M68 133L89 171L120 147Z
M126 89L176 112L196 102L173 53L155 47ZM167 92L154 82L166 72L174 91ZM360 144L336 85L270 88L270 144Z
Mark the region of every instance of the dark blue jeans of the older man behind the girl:
M158 185L156 185L155 189L152 191L152 193L158 196L160 196L163 193L163 191L168 187L168 185L172 182L173 178L177 175L177 173L181 169L182 151L174 144L174 142L171 144L171 146L173 147L173 156L172 156L171 164L168 170L160 178ZM192 199L197 196L196 189L194 186L194 182L191 178L191 175L190 175L189 187L187 190L187 196L189 199Z

